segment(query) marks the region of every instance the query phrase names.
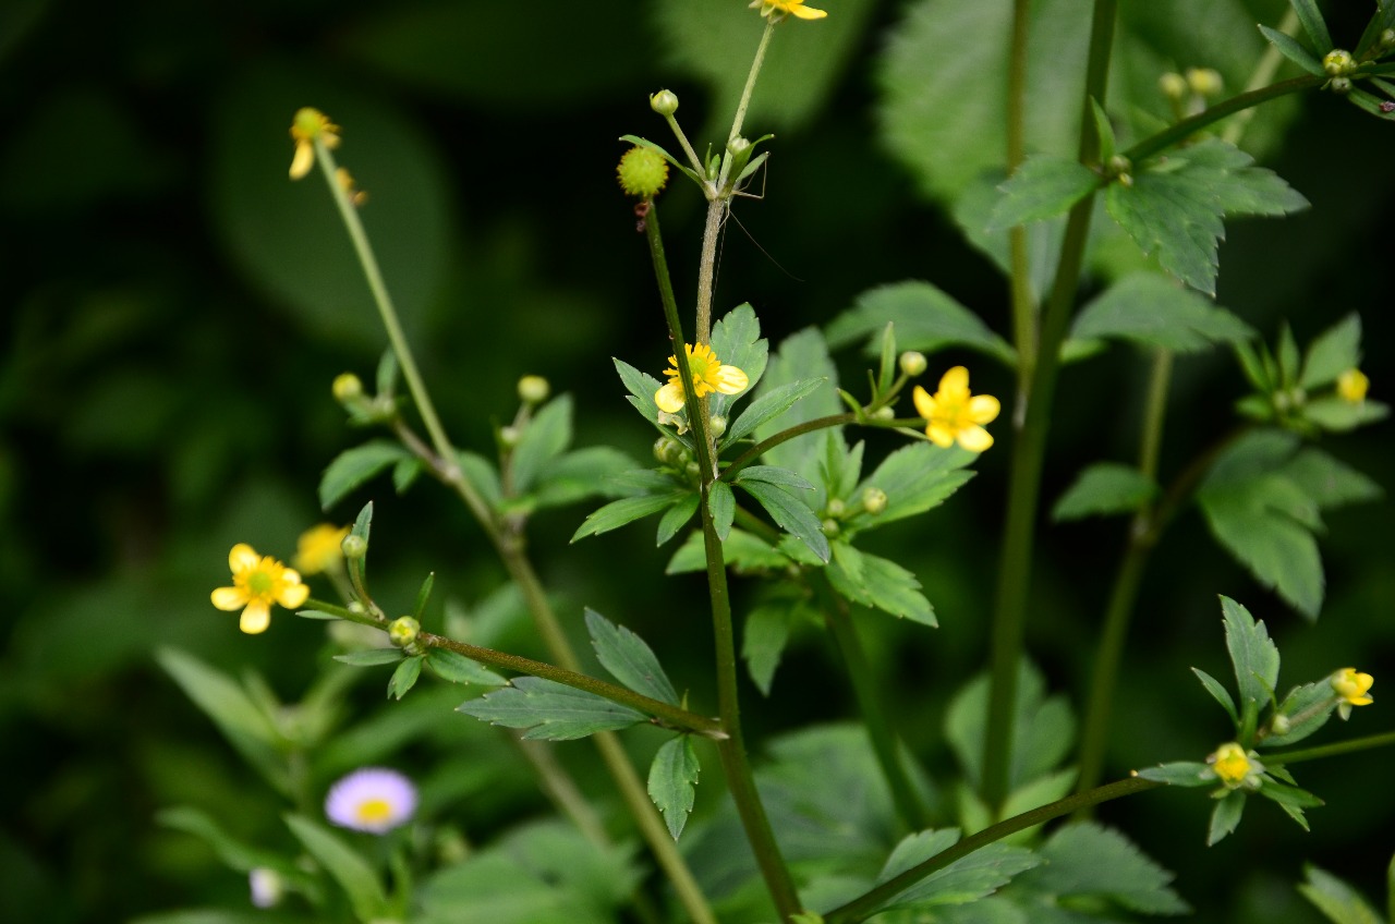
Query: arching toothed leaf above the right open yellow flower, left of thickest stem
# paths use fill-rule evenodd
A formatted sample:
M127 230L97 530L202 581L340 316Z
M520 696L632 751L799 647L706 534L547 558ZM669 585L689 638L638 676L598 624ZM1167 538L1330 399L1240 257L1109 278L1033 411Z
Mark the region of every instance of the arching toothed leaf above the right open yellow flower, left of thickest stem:
M837 349L896 325L903 350L933 353L950 346L979 350L1007 366L1017 362L1013 348L983 321L929 282L907 281L868 289L854 307L829 324L829 346Z

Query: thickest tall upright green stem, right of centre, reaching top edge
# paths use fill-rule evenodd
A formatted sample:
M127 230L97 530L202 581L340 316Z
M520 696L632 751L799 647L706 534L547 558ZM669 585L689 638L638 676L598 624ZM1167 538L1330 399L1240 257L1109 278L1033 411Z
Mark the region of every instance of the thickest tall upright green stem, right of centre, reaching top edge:
M1095 0L1089 32L1089 64L1085 73L1085 95L1081 102L1080 162L1098 159L1099 138L1091 116L1091 100L1103 99L1109 53L1115 31L1117 0ZM1031 398L1023 429L1013 451L1007 495L1007 518L1003 537L1003 557L999 568L997 604L993 613L992 690L989 694L988 730L983 750L983 797L996 811L1007 796L1007 768L1011 759L1013 706L1017 699L1017 666L1023 655L1027 596L1031 582L1032 543L1036 526L1036 507L1041 493L1042 462L1046 431L1050 426L1050 405L1060 368L1060 345L1070 327L1080 268L1084 262L1085 239L1095 197L1087 195L1070 211L1066 237L1050 300L1042 315L1041 339L1031 385Z

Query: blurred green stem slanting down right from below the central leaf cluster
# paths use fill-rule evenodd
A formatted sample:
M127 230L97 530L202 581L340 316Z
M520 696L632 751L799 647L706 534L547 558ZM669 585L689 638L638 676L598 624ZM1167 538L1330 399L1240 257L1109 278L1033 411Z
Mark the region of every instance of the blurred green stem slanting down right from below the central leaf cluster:
M852 623L847 602L837 595L829 583L827 574L820 568L808 572L809 585L815 596L819 597L823 620L833 634L833 641L843 655L843 663L852 683L852 694L862 712L862 722L866 726L868 737L872 740L872 751L882 766L882 776L886 777L891 801L901 815L901 821L910 830L923 830L930 826L930 814L921 801L919 794L911 784L911 777L905 772L901 761L900 743L887 722L887 710L877 695L872 666L858 638L858 628Z

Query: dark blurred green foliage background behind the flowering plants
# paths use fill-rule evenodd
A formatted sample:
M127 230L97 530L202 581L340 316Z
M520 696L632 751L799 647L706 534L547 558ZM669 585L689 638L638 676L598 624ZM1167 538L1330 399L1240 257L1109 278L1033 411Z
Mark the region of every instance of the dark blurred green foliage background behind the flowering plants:
M827 322L865 289L925 278L1006 334L1006 286L944 208L960 180L940 165L908 163L896 140L904 123L890 112L897 77L887 49L923 4L823 6L827 21L776 36L748 128L778 137L764 198L739 201L741 228L728 225L718 310L749 300L774 343ZM1041 6L1077 18L1088 7ZM1276 22L1283 4L1147 6L1126 22L1141 50L1116 77L1124 102L1144 99L1162 68L1218 67L1236 85L1230 74L1243 77L1262 47L1253 22ZM1334 4L1334 33L1355 40L1373 6ZM1204 21L1214 11L1229 18ZM321 624L282 613L268 635L248 638L208 602L227 581L234 542L289 557L300 530L325 516L318 475L363 438L343 426L329 382L346 370L370 380L384 346L321 179L286 180L292 113L314 105L343 126L340 163L371 197L364 221L458 444L491 452L491 422L512 416L518 377L536 373L575 396L580 445L610 442L647 461L651 433L628 413L611 357L657 373L667 341L614 181L617 137L670 141L647 107L661 87L679 94L699 147L720 137L711 113L730 112L756 22L738 0L0 4L0 775L11 793L0 920L114 921L246 902L241 879L188 836L158 828L153 814L179 803L226 812L243 801L246 833L276 824L275 800L239 769L152 650L177 645L233 673L252 666L294 699L324 648ZM1067 73L1080 38L1048 36L1036 67ZM996 52L983 50L993 46L965 35L951 47L958 56L923 64L968 71L989 107L1000 105ZM997 156L974 117L946 112L940 128ZM1219 301L1271 341L1285 320L1306 342L1360 311L1378 398L1395 381L1385 349L1395 324L1391 133L1327 95L1257 123L1251 141L1313 209L1232 225L1219 289ZM688 293L702 201L674 184L661 208L675 285ZM858 357L845 360L847 381L861 381ZM975 363L975 391L1010 394L1004 370L970 355L933 357L932 375L950 360ZM1127 349L1067 370L1048 498L1088 462L1133 458L1145 374ZM1242 391L1226 355L1179 362L1165 476L1228 427ZM950 769L939 730L946 698L986 650L1010 445L1003 423L979 479L880 539L917 571L940 617L935 632L879 624L873 643L887 687L905 691L897 724L940 775ZM1388 424L1325 442L1395 483ZM873 451L891 445L873 441ZM399 607L427 571L438 574L438 599L466 609L504 581L465 511L442 497L427 483L402 498L375 483L328 514L347 522L377 501L377 593ZM713 708L700 578L663 576L671 549L654 550L649 525L568 546L585 512L548 512L531 529L569 629L583 635L583 604L629 625L695 703ZM1269 624L1288 683L1346 663L1395 663L1391 525L1388 500L1329 518L1328 602L1309 625L1186 515L1145 581L1116 703L1113 772L1197 758L1225 733L1187 670L1225 671L1216 593ZM1122 530L1089 521L1041 533L1030 642L1053 685L1073 695L1088 674ZM738 607L746 592L737 588ZM852 715L837 664L824 639L802 638L767 702L746 688L757 748L769 734ZM1384 683L1378 674L1377 708L1359 713L1352 733L1388 727ZM374 684L354 694L365 713L385 708ZM412 759L449 752L449 731L432 747ZM1103 817L1179 871L1200 920L1313 921L1290 886L1304 858L1370 893L1381 884L1395 851L1392 768L1382 751L1304 768L1302 780L1331 801L1310 815L1310 835L1258 805L1239 836L1207 850L1209 807L1194 793L1149 794ZM710 810L699 790L699 815ZM497 807L483 800L470 811L490 819ZM488 825L474 833L487 839Z

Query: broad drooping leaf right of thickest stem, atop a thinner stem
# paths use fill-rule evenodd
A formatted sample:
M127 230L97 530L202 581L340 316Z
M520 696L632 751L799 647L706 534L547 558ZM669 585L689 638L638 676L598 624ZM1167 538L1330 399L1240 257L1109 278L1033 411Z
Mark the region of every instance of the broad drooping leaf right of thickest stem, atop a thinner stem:
M1081 308L1073 338L1117 338L1177 353L1237 343L1254 329L1225 308L1155 272L1136 272Z

